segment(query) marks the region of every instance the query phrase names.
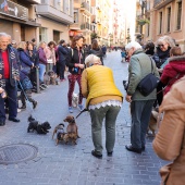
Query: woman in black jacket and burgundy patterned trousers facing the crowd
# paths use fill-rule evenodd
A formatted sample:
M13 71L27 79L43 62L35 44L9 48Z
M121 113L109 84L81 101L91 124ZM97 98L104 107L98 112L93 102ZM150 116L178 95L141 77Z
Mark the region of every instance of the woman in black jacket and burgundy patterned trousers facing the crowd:
M84 37L82 35L77 35L73 37L71 50L67 54L66 66L69 66L69 92L67 92L67 100L69 100L69 112L73 113L72 108L72 95L75 87L75 82L77 82L79 86L79 98L78 98L78 108L83 110L83 95L82 95L82 85L81 85L81 77L82 72L84 70L84 61L85 54L83 50L83 41Z

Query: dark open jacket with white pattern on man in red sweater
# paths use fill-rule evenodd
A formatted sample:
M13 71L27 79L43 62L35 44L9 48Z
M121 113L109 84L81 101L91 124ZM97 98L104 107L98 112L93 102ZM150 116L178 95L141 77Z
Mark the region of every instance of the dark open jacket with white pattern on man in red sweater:
M16 49L14 49L11 45L8 46L8 54L9 54L9 71L10 71L10 84L12 87L15 87L15 79L14 76L20 76L20 60ZM2 75L2 78L0 79L0 85L2 88L4 88L5 83L4 82L4 67L3 67L3 61L2 61L2 53L0 50L0 74Z

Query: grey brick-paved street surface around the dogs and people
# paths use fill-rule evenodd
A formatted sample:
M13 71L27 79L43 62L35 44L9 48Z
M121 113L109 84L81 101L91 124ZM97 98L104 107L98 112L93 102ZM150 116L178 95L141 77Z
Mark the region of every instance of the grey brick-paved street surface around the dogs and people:
M104 61L114 72L118 87L125 94L122 81L127 76L127 64L121 63L120 51L108 53ZM77 85L76 89L77 91ZM1 185L159 185L159 169L166 163L152 150L152 138L147 138L146 151L141 155L128 152L130 109L124 101L116 122L116 141L113 157L96 159L90 155L92 147L90 116L86 112L76 123L81 138L77 145L54 145L51 139L53 127L61 123L67 112L67 82L60 86L49 86L41 94L35 94L38 107L33 115L40 122L49 121L52 128L47 135L27 133L27 116L30 108L18 113L21 123L7 121L0 127L0 147L10 144L30 144L38 148L35 159L17 164L0 164ZM84 101L85 102L85 101ZM79 110L74 111L77 115ZM66 125L66 124L65 124ZM104 137L104 130L103 137ZM103 139L104 143L104 139ZM12 153L13 155L13 153Z

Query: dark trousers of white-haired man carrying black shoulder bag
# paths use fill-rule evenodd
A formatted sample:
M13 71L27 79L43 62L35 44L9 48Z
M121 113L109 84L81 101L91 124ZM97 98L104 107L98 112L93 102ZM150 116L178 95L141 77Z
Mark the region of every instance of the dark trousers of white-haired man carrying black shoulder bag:
M155 100L131 102L132 126L131 144L134 148L141 148L146 144L146 134Z

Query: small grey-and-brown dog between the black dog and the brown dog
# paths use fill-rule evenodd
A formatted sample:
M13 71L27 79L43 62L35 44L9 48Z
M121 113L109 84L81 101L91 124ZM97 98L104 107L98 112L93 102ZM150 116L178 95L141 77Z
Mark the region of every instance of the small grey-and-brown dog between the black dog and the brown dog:
M53 139L53 137L54 137L54 134L57 134L57 138L55 138L55 145L58 145L59 144L59 141L61 140L64 140L64 135L66 134L65 132L64 132L64 124L63 123L60 123L59 125L57 125L55 127L54 127L54 131L53 131L53 134L52 134L52 139Z

